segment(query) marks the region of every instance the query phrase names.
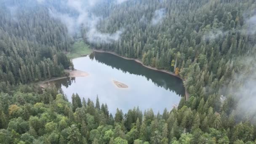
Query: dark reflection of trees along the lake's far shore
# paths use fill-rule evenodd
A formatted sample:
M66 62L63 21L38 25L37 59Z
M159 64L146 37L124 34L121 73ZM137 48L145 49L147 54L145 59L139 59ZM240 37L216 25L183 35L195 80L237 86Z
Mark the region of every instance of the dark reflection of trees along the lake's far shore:
M183 82L178 77L171 76L165 72L159 72L142 67L141 64L135 61L126 60L110 53L94 52L89 56L89 58L91 60L95 59L102 64L106 64L113 69L116 68L121 70L124 73L128 72L130 74L144 76L148 81L152 80L152 82L158 87L163 87L166 90L169 89L177 95L185 95Z

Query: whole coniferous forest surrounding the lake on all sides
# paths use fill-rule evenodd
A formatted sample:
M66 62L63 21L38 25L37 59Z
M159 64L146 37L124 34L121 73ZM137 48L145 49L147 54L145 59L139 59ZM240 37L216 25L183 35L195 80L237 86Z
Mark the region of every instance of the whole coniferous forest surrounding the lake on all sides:
M105 0L88 10L101 17L94 31L87 19L75 35L49 10L79 17L69 2L0 0L0 144L256 143L255 0ZM112 115L100 97L35 85L73 67L66 53L80 37L173 72L189 99Z

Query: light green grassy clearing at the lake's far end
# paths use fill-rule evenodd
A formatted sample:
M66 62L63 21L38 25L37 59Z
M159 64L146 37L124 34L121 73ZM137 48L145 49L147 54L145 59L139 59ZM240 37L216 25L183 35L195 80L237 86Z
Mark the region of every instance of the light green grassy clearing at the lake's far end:
M89 48L89 45L85 44L83 40L78 40L72 45L70 53L67 53L67 57L75 59L90 53L92 53L92 49Z

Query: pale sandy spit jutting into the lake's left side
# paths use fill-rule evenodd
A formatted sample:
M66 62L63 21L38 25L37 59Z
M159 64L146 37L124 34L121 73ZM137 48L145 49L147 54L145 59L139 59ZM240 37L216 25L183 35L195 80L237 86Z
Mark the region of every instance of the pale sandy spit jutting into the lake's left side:
M50 82L55 80L61 80L67 77L87 77L89 75L87 72L83 72L77 69L72 70L72 72L69 72L69 70L65 69L64 72L67 74L69 73L69 75L64 77L56 77L56 78L51 78L49 80L40 81L38 84L40 85L41 88L46 88Z

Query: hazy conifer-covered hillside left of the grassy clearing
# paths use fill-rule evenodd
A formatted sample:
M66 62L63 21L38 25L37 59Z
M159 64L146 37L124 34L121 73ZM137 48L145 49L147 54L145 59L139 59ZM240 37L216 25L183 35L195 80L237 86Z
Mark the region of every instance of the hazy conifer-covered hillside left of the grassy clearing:
M45 8L9 5L0 6L1 91L60 76L72 66L63 53L70 48L64 24L48 16Z

